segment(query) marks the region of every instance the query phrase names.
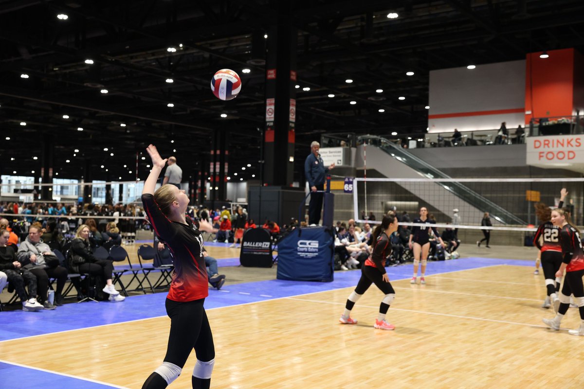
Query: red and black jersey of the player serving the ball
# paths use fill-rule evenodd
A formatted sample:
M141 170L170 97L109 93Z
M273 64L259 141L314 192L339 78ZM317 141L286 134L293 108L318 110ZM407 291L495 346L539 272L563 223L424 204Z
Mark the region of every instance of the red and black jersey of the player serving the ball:
M158 208L151 194L142 195L142 204L154 233L171 250L175 270L168 299L189 302L208 296L207 267L203 257L203 237L199 222L187 218L187 224L171 222Z

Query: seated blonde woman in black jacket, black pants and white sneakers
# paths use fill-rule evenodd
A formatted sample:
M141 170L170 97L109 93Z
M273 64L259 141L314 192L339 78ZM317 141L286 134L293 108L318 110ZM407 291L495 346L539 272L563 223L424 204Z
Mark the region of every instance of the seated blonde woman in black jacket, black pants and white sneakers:
M78 273L102 276L106 280L103 292L108 293L110 301L124 301L126 297L121 296L112 282L113 264L109 260L98 260L93 256L89 248L89 227L81 225L77 229L75 239L71 241L71 251L69 254L69 269Z

